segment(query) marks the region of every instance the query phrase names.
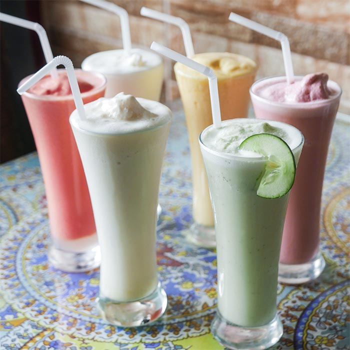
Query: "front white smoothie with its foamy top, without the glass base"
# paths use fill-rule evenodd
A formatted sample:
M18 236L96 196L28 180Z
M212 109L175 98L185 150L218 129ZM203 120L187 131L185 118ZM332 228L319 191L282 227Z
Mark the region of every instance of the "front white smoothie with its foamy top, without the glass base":
M100 297L138 300L158 283L155 227L171 111L123 93L70 116L101 248Z

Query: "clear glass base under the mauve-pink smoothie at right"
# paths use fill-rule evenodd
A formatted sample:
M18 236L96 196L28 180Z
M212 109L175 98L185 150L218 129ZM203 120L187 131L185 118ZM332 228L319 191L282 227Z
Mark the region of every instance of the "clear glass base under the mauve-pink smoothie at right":
M278 265L278 282L285 284L301 284L317 278L323 271L325 261L320 252L306 263Z

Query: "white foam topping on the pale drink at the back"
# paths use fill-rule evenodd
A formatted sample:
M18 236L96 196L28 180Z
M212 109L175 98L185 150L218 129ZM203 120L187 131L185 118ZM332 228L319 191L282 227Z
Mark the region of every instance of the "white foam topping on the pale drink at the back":
M128 54L123 49L96 52L86 57L81 67L83 70L105 74L125 74L146 70L161 62L161 57L154 52L132 48Z

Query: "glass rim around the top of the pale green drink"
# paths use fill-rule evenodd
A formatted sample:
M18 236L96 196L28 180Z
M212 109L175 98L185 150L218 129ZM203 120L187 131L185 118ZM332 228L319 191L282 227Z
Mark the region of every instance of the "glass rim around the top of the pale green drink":
M269 121L272 121L272 122L275 122L275 123L281 123L281 124L286 124L288 125L288 127L291 127L295 130L297 130L297 132L300 134L301 136L301 140L300 142L298 143L298 145L296 145L295 147L293 148L290 148L291 151L294 151L296 149L298 149L299 147L302 147L303 144L304 144L304 135L302 134L302 132L295 126L293 125L290 125L288 123L285 123L283 121L277 121L277 120L269 120L269 119L256 119L256 118L232 118L232 119L226 119L226 120L222 120L221 121L221 124L226 124L226 123L229 123L230 120L237 120L237 119L244 119L244 120L249 120L249 119L252 119L252 120L258 120L258 121L266 121L266 122L269 122ZM198 140L199 140L199 145L200 147L202 147L203 149L205 149L207 152L213 154L213 155L216 155L216 156L219 156L219 157L222 157L222 158L226 158L226 159L232 159L232 160L241 160L241 161L265 161L266 159L262 156L260 157L247 157L247 156L241 156L241 155L235 155L235 154L232 154L232 153L227 153L227 152L221 152L219 150L214 150L214 149L211 149L209 148L206 144L204 144L203 140L201 139L201 136L202 136L202 133L207 130L208 128L210 127L214 127L213 124L205 127L205 129L203 129L200 134L199 134L199 137L198 137ZM289 145L288 145L289 146ZM294 154L294 153L293 153Z

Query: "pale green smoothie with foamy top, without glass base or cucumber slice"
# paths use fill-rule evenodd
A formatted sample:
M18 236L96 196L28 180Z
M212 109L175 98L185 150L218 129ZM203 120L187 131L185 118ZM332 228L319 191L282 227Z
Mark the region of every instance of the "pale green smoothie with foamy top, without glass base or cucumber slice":
M266 162L273 159L239 145L261 133L284 140L297 162L302 134L282 122L225 120L220 128L204 129L199 141L214 212L218 311L243 327L265 325L275 317L278 258L288 201L288 193L273 199L256 194L257 180Z

